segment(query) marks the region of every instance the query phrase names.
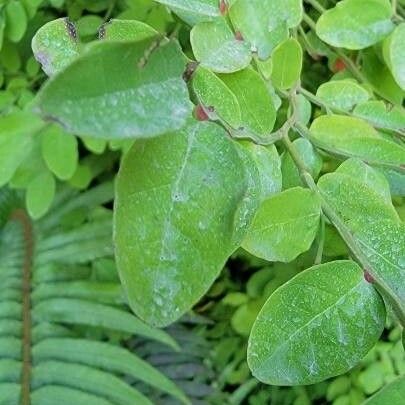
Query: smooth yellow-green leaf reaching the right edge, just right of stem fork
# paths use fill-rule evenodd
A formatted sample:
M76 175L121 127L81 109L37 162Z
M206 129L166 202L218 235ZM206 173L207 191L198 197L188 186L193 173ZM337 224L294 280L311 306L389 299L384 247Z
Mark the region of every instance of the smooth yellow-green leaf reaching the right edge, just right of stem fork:
M358 157L370 164L401 166L405 162L403 146L384 139L359 118L323 115L313 121L310 137L318 147L328 152Z

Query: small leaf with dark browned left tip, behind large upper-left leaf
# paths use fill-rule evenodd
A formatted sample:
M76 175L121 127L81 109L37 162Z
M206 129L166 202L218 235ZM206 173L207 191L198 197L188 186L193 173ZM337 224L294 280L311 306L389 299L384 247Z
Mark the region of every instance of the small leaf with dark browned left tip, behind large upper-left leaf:
M142 41L158 32L141 21L111 19L101 26L99 38L109 41Z

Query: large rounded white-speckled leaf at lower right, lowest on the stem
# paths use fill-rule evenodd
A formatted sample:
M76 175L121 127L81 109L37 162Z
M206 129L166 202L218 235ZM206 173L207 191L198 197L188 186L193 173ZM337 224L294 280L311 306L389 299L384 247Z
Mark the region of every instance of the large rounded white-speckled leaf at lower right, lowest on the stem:
M313 384L358 364L384 323L383 301L354 262L315 266L263 306L249 338L249 367L268 384Z

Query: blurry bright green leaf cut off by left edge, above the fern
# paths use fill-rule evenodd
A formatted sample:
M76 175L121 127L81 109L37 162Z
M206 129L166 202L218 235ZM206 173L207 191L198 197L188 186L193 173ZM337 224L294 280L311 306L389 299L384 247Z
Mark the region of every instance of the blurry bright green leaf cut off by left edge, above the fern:
M30 153L32 135L43 127L43 122L28 112L13 112L0 117L0 186L8 183Z

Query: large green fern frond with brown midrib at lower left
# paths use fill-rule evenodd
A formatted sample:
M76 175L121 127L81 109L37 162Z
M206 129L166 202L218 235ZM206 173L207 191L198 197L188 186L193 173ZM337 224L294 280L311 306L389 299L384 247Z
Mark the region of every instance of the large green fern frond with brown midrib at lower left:
M101 206L112 196L112 183L81 194L62 189L32 223L18 194L0 189L0 405L151 404L133 380L189 403L119 344L137 335L178 350L128 310L112 260L111 211Z

